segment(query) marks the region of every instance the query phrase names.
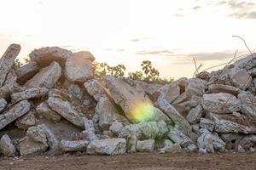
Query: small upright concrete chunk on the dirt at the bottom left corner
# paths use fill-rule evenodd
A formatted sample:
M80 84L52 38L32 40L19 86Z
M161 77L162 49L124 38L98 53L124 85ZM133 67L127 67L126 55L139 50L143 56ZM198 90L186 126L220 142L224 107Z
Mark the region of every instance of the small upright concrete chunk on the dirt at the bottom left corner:
M0 139L0 153L3 156L15 156L15 145L7 134L4 134Z

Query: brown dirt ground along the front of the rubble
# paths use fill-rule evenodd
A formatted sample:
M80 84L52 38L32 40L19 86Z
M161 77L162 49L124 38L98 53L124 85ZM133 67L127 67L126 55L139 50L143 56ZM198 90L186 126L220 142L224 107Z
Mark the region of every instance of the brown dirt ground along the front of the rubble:
M73 170L73 169L137 169L137 170L201 170L256 169L256 152L245 154L127 154L123 156L30 156L2 158L4 170Z

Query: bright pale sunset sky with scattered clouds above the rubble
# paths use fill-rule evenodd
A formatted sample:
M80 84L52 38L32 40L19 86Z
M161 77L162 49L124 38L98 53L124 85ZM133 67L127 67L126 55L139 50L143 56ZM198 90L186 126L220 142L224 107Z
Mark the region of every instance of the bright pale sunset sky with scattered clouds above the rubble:
M256 0L0 0L0 21L0 55L59 46L127 72L151 60L175 79L193 76L193 57L204 70L247 54L234 35L256 51Z

